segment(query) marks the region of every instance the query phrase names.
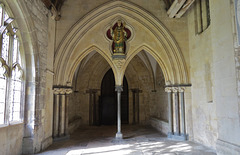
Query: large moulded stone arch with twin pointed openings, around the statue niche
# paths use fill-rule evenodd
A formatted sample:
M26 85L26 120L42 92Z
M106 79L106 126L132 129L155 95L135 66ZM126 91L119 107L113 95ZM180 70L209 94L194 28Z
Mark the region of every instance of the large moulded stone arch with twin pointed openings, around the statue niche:
M116 84L122 84L127 63L123 63L123 66L119 67L112 61L109 42L104 37L106 32L103 32L108 25L106 23L111 23L118 16L126 19L131 26L135 27L136 35L129 42L126 62L130 62L134 55L144 49L161 66L166 84L189 83L188 68L183 54L167 28L138 5L126 1L113 1L88 13L76 22L64 36L55 53L55 85L71 85L74 69L91 48L96 48L110 64L114 71ZM145 40L146 42L141 41L140 45L137 45L136 42L139 42L137 35L141 33L139 29L148 34L152 42ZM86 40L88 41L86 42ZM62 64L61 62L66 63Z

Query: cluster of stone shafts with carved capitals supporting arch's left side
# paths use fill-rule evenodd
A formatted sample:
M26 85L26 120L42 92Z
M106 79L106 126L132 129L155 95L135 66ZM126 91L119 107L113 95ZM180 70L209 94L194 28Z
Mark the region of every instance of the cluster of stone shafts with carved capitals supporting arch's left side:
M68 138L68 98L72 93L71 87L54 88L53 107L53 138L61 140Z

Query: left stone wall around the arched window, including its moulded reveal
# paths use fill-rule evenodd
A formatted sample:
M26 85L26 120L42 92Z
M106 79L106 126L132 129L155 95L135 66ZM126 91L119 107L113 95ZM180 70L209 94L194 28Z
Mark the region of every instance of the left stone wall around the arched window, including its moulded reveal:
M2 2L12 11L15 25L20 32L26 91L24 125L0 128L3 137L3 148L0 150L12 155L32 154L41 150L42 141L51 134L50 130L44 131L45 123L51 121L48 115L45 115L48 11L41 0Z

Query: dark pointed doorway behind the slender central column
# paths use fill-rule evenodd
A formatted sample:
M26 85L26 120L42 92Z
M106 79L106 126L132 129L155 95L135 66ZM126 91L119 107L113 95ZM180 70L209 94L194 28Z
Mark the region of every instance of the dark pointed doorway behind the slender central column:
M115 91L115 80L112 69L109 69L104 75L99 101L100 124L117 124L117 93ZM128 83L125 77L123 80L123 92L121 93L121 121L122 124L128 124Z

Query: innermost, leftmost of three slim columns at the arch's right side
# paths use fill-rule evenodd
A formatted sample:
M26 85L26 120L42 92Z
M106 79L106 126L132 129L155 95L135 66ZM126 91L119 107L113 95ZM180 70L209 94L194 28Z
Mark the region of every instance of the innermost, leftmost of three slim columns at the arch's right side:
M168 137L170 138L173 135L172 88L166 87L165 92L168 93L168 124L169 124Z

